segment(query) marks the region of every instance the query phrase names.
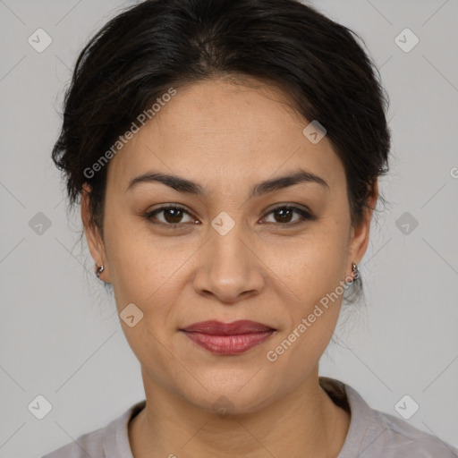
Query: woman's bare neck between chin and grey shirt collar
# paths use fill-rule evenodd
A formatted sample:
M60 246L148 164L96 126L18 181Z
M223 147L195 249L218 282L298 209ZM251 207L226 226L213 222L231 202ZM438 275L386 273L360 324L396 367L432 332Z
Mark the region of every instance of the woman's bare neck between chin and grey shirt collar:
M143 374L144 375L144 374ZM335 458L350 414L318 384L318 366L290 394L259 411L219 416L144 378L147 405L129 423L135 458Z

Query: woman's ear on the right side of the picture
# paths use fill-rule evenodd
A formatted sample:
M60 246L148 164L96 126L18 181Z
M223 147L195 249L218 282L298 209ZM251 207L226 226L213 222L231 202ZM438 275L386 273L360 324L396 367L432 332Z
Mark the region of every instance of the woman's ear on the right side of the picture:
M348 251L347 259L347 269L349 273L347 276L352 276L352 262L356 265L360 262L360 259L364 256L364 253L368 249L369 245L369 231L370 231L370 221L372 220L372 214L374 208L377 204L378 199L378 180L374 180L372 185L371 193L366 200L368 207L363 208L363 216L361 218L360 224L352 228L352 235L350 239L350 249Z

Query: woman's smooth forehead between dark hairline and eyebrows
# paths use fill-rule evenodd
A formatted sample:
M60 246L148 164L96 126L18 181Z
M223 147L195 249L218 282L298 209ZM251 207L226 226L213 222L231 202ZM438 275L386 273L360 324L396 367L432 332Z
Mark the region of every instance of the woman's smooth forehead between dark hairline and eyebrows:
M297 167L342 184L344 168L331 143L310 142L302 133L309 121L291 105L281 89L259 81L178 87L111 159L108 186L125 190L152 169L227 188L235 177L252 182Z

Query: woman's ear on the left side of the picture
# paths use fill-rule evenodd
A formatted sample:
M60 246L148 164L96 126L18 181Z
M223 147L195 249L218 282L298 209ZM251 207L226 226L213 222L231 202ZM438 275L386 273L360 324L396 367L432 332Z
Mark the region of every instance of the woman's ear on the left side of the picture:
M94 259L94 262L97 263L98 266L101 264L104 265L104 271L100 274L99 278L105 283L111 283L110 271L106 260L105 242L103 241L98 227L94 225L91 220L91 211L89 207L90 191L91 188L89 184L84 183L81 190L81 220L84 226L84 233L86 234L86 241L88 242L92 259Z

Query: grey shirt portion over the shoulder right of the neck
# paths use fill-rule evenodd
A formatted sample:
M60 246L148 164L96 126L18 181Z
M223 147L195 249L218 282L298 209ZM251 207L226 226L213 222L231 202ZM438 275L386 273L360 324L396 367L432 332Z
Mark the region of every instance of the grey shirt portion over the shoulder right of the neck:
M320 385L337 405L351 412L350 428L337 458L458 458L453 445L372 409L352 386L329 377L320 377Z

